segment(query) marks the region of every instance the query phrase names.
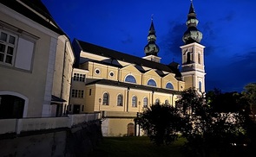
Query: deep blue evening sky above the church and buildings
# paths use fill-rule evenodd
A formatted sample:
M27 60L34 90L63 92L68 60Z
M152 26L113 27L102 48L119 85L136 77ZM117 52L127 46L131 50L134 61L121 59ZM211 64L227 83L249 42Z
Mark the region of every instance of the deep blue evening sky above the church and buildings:
M151 15L161 63L181 63L189 0L42 0L71 41L143 57ZM256 0L194 0L203 34L206 87L242 91L256 82Z

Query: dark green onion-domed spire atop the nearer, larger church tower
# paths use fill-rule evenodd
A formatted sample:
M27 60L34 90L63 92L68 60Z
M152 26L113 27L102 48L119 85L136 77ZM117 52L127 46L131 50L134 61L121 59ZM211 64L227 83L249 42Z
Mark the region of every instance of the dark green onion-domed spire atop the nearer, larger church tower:
M193 1L191 0L190 8L187 15L187 31L184 33L182 40L185 44L198 42L202 40L202 33L196 28L198 25L198 20L194 11Z

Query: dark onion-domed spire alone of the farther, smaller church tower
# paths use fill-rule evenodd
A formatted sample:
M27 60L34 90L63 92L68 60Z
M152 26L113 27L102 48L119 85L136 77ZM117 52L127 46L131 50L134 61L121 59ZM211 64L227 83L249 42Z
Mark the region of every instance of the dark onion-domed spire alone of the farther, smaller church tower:
M156 35L154 30L153 15L151 15L151 25L148 31L148 44L144 47L144 53L146 56L155 55L159 52L159 47L155 44Z

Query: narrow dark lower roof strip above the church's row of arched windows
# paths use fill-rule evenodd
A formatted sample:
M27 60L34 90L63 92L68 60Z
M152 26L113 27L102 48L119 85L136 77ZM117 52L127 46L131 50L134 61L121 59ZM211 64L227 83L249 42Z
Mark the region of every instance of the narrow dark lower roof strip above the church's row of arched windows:
M129 89L137 89L137 90L143 90L143 91L156 91L156 92L162 92L162 93L168 93L168 94L170 94L170 93L181 94L181 91L173 91L173 90L168 90L168 89L163 89L163 88L151 87L148 85L129 84L129 83L119 82L119 81L114 81L114 80L109 80L109 79L97 79L97 80L90 82L86 85L95 85L95 84L127 87Z

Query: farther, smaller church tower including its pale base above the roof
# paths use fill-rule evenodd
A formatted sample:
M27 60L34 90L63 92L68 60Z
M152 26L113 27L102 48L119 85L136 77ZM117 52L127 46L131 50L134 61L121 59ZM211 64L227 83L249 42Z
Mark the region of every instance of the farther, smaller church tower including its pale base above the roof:
M159 47L155 44L155 41L156 35L154 30L154 22L153 17L151 17L151 25L148 33L148 44L144 47L144 52L146 56L143 57L143 59L152 60L160 63L161 57L157 56L157 53L159 52Z

